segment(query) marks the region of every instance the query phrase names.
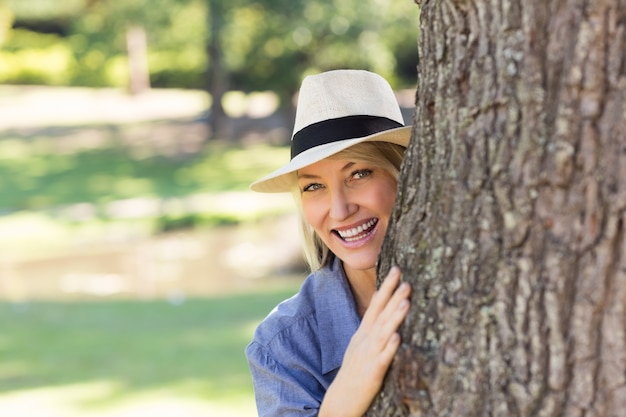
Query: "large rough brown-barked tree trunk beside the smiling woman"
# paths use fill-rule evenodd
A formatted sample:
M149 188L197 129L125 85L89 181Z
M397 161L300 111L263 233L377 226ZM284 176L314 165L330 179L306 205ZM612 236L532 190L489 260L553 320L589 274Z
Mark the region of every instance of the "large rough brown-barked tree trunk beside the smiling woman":
M626 1L420 6L379 265L412 310L368 415L626 415Z

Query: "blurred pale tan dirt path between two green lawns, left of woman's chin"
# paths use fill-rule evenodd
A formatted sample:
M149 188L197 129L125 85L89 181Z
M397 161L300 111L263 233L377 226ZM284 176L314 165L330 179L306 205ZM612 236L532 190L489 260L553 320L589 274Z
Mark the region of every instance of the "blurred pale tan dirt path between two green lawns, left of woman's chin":
M0 257L0 299L166 298L252 291L301 279L295 217L100 242L37 259Z

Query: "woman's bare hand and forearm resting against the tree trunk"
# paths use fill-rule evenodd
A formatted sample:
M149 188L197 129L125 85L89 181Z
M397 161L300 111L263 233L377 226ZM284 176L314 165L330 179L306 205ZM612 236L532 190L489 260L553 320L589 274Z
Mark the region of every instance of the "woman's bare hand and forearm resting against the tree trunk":
M328 388L319 417L362 416L380 390L400 346L398 326L409 311L411 287L393 267L370 302L350 340L337 377Z

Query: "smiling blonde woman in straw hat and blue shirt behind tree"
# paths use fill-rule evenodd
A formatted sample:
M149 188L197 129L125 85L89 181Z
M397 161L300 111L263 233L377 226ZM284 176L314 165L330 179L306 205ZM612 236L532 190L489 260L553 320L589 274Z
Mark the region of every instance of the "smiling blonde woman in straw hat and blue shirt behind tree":
M400 344L410 287L376 262L410 128L367 71L304 79L291 161L253 183L293 192L312 273L259 325L246 356L260 416L361 416Z

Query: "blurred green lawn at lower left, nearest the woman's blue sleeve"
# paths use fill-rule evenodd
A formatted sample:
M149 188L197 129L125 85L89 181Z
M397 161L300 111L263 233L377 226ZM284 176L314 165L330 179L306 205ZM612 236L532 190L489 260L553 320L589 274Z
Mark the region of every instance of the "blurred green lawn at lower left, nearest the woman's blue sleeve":
M294 291L0 303L0 415L254 416L244 348Z

